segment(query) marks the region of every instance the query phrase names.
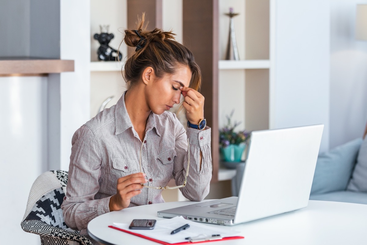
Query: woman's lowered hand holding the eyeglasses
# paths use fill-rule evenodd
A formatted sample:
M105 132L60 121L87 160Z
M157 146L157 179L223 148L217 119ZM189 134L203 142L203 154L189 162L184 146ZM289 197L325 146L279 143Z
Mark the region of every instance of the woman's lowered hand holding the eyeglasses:
M110 211L117 211L127 208L130 199L141 193L143 188L141 183L146 183L145 173L134 173L117 180L117 192L110 198Z

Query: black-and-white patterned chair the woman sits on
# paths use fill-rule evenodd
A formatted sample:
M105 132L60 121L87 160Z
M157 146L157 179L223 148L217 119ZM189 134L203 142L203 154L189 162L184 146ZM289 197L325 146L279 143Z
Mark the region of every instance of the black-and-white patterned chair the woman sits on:
M43 245L92 245L88 238L64 222L61 203L67 183L67 171L52 170L41 174L30 190L21 227L26 232L40 235Z

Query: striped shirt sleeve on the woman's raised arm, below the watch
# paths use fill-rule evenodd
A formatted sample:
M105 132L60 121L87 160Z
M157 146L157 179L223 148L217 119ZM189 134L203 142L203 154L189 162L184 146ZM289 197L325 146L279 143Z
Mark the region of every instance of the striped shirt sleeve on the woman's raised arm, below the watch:
M177 119L177 118L176 118ZM190 143L190 166L186 186L180 188L182 195L190 201L201 201L209 193L212 176L211 128L205 130L185 129L177 120L175 123L175 151L173 176L176 185L182 185L187 168L187 139ZM200 166L201 152L201 166Z

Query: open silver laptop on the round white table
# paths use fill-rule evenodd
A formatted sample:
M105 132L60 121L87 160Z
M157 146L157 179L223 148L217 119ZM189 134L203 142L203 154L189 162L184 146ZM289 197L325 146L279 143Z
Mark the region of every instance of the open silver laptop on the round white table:
M238 197L158 212L232 226L308 205L324 125L253 131Z

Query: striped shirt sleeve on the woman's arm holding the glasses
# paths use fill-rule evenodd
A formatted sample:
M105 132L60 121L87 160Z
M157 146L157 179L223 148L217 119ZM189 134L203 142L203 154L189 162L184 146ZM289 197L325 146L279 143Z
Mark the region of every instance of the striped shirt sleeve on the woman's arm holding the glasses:
M83 230L94 217L109 212L110 197L94 199L101 177L101 150L94 133L82 126L72 138L68 184L61 205L65 223Z

